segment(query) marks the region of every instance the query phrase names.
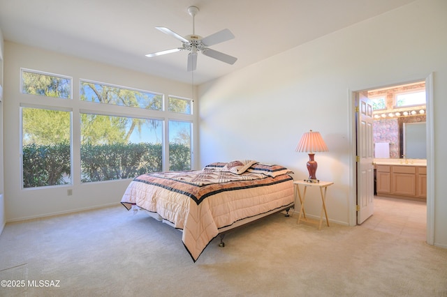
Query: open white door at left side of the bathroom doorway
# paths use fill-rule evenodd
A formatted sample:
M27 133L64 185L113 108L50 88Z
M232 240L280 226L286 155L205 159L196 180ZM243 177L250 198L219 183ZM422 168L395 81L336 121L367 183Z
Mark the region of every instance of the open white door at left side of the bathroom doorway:
M372 101L367 92L356 93L357 112L357 223L374 213L374 139Z

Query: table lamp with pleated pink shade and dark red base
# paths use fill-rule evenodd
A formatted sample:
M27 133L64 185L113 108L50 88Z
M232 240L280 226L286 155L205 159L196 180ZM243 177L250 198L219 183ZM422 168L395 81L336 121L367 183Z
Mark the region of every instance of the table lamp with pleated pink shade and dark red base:
M307 170L309 171L309 179L316 178L316 168L318 164L314 160L315 152L329 151L320 132L310 130L302 135L300 142L295 148L295 151L302 153L309 153L309 161L307 161Z

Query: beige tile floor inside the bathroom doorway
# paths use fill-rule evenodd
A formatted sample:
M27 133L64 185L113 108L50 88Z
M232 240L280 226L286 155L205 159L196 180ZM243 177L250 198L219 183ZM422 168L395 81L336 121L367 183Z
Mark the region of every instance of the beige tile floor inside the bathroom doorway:
M427 204L375 196L374 214L360 226L426 241Z

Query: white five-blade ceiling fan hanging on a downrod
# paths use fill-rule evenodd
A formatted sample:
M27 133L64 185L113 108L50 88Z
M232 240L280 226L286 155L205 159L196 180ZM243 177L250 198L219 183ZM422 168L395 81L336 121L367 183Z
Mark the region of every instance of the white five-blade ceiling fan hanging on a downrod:
M156 29L159 29L161 32L166 33L174 38L177 38L182 42L182 47L177 47L171 50L163 50L161 52L154 52L152 54L147 54L146 56L160 56L162 54L170 54L173 52L180 52L182 50L188 50L190 53L188 54L188 71L196 70L197 67L197 52L202 52L205 56L210 56L213 59L217 59L219 61L228 63L233 65L237 58L234 56L230 56L228 54L223 54L223 52L217 52L217 50L212 50L209 48L211 45L217 45L217 43L223 43L223 41L230 40L235 38L233 33L231 33L228 29L223 29L217 33L214 33L210 36L202 38L201 36L196 35L195 32L195 24L194 17L198 13L198 8L196 6L189 6L188 13L193 17L193 33L191 35L182 37L179 34L175 33L171 29L168 29L164 26L156 26Z

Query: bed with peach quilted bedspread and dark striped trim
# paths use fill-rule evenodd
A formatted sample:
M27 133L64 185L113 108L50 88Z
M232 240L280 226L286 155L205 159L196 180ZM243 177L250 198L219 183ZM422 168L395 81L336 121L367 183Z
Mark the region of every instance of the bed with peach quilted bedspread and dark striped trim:
M142 174L122 197L128 210L143 209L182 230L197 261L215 237L294 205L291 172L254 160L214 162L198 171Z

